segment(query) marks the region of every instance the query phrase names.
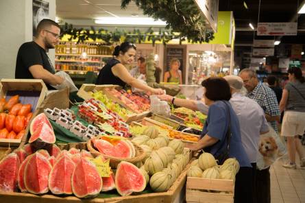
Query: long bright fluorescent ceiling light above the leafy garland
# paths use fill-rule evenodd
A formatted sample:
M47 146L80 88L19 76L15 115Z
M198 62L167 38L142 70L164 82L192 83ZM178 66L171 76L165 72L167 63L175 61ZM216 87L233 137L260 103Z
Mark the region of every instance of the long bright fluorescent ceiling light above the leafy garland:
M155 21L152 18L136 18L133 17L103 17L95 20L96 24L103 24L103 25L158 25L158 26L165 26L167 25L166 22L158 20Z

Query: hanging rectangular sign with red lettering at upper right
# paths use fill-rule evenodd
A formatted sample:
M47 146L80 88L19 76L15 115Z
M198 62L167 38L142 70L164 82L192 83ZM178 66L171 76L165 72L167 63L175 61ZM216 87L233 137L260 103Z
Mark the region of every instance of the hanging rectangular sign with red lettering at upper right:
M297 23L258 23L258 36L297 35Z

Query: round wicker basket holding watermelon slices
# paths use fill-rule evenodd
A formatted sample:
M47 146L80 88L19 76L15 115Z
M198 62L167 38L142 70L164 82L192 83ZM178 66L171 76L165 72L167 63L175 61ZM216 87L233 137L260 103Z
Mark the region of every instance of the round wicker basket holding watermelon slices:
M105 158L109 158L110 159L110 167L113 169L117 168L117 165L119 165L119 163L122 160L125 160L127 162L130 163L138 163L141 160L143 160L143 158L145 158L145 152L144 150L139 147L138 145L132 143L134 145L134 150L136 150L136 156L134 156L133 158L119 158L119 157L114 157L114 156L108 156L106 154L103 154L103 157ZM87 148L89 150L89 152L91 152L91 154L93 154L94 156L98 156L99 154L101 154L99 151L96 150L96 148L93 146L93 143L91 142L91 140L87 141Z

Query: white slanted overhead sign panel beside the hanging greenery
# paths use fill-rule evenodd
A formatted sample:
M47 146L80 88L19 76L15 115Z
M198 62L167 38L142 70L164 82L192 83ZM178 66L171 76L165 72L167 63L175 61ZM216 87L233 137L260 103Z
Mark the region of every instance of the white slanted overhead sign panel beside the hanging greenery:
M206 21L214 32L217 32L217 14L219 0L194 0L206 17Z

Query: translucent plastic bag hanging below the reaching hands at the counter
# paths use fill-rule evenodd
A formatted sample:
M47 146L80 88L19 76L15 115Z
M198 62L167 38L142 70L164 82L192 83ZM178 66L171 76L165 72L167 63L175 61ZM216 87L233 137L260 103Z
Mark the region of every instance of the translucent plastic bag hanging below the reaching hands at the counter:
M151 95L150 99L150 111L158 115L164 115L169 117L171 115L171 108L167 101L161 101L156 95Z

